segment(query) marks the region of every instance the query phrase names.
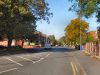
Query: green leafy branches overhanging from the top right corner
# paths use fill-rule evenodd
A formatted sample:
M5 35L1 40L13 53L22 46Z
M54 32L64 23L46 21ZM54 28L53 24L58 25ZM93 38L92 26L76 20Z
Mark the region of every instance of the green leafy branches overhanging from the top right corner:
M78 15L89 18L96 13L97 21L100 22L100 0L69 0L73 5L69 10L77 12Z

